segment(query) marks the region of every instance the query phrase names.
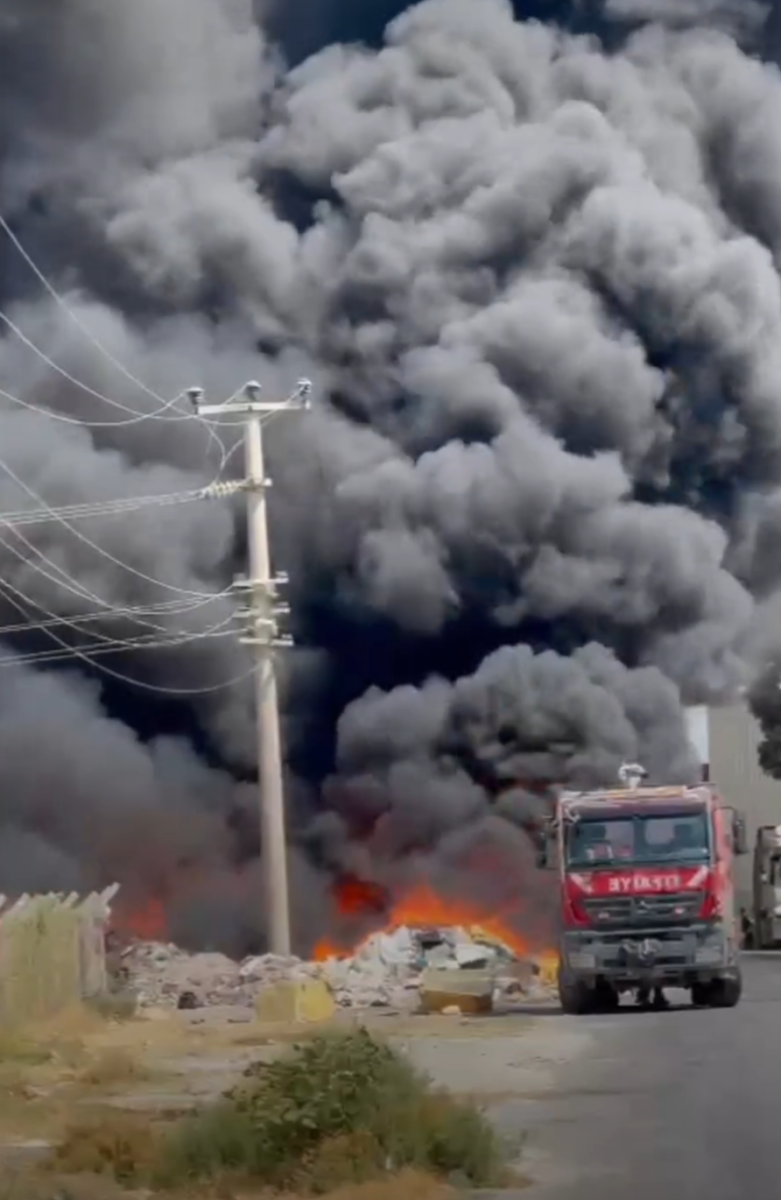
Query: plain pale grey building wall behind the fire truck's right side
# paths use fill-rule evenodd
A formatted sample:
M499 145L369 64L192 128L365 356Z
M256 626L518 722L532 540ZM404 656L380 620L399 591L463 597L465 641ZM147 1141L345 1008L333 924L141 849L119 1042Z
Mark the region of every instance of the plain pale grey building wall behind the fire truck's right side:
M761 732L744 704L708 710L710 779L727 804L746 817L749 846L763 824L781 823L781 780L765 775L759 767L757 746ZM751 901L751 854L737 863L738 902Z

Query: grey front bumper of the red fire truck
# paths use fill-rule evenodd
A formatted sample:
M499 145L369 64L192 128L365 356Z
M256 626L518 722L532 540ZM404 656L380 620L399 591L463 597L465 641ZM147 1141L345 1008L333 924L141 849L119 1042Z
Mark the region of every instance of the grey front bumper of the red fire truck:
M625 990L641 985L691 988L737 968L737 949L711 926L609 935L566 934L561 971L587 984L606 980Z

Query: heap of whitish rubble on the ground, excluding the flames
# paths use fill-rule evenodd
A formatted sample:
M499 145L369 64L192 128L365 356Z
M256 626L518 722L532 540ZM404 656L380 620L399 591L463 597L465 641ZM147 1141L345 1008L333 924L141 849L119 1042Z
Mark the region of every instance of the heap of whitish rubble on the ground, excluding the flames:
M118 967L142 1008L254 1008L264 989L306 980L325 983L336 1004L348 1009L469 1012L475 1010L470 996L481 997L481 1010L486 996L488 1007L551 996L549 983L530 958L518 958L475 928L402 926L374 934L354 954L325 962L274 954L234 962L222 954L133 942L119 955ZM463 1003L459 997L465 997Z

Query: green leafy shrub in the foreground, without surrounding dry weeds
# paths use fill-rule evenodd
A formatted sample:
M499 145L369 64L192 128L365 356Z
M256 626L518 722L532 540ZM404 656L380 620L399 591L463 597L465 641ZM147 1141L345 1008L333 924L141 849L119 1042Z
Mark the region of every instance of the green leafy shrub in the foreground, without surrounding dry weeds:
M402 1055L360 1031L296 1046L186 1121L166 1146L158 1182L229 1170L323 1193L409 1166L488 1187L503 1162L479 1109L434 1091Z

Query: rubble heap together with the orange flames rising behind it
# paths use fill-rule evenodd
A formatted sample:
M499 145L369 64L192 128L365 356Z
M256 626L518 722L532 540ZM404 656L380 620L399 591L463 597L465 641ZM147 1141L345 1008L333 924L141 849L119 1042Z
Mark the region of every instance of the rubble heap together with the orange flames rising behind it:
M245 1014L262 1012L259 1002L277 985L306 980L324 984L337 1008L475 1013L551 998L557 956L517 932L515 902L504 913L489 912L420 886L388 916L376 905L370 918L372 899L378 896L365 886L344 887L343 916L353 922L343 923L342 942L318 942L310 961L272 954L238 961L113 930L112 985L142 1009L217 1006ZM367 920L372 932L356 940L355 929Z

